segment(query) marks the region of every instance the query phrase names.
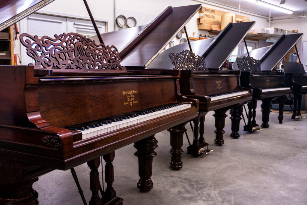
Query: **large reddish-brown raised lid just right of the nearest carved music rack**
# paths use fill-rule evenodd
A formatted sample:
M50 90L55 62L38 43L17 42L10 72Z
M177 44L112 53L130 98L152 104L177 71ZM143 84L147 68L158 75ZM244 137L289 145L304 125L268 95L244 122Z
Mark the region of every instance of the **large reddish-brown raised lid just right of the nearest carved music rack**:
M115 45L121 65L145 68L200 9L201 4L167 7L150 24L101 34L105 45ZM97 41L98 37L91 37Z

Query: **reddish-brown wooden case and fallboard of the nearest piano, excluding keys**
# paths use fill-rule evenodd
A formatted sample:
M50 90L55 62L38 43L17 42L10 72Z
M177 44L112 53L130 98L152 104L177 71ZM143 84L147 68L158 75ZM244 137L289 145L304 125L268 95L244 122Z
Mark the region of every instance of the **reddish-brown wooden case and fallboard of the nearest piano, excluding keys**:
M0 153L8 159L67 170L198 116L197 100L176 88L178 71L34 77L32 66L0 66L0 72ZM84 140L64 128L176 101L191 106Z

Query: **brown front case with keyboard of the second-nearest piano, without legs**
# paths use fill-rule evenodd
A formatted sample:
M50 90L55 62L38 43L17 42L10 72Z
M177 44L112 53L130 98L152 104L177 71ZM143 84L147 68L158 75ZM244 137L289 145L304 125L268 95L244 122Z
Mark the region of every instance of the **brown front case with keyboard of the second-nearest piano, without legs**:
M181 70L180 92L198 99L203 112L244 103L252 99L252 90L243 89L239 75L240 71Z

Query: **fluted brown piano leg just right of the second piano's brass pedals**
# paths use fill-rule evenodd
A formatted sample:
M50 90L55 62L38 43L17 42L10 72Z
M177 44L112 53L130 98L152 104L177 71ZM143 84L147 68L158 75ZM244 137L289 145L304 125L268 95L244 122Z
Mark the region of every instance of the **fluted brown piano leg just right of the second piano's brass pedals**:
M216 130L214 131L216 136L214 140L214 144L216 145L223 145L224 144L224 139L223 139L223 134L225 131L223 128L225 127L225 118L227 115L225 114L228 109L218 109L215 110L214 112L214 118L215 118L215 128Z

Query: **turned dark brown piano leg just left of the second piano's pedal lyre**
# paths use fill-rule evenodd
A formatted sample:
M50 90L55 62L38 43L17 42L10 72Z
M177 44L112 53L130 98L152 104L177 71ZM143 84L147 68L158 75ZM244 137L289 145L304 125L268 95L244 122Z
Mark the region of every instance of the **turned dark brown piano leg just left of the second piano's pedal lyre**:
M182 168L182 161L181 161L181 154L183 150L181 149L183 145L183 134L185 131L185 124L182 123L175 127L167 129L170 132L171 136L171 150L169 151L172 154L171 162L169 163L169 167L172 169L181 169Z

